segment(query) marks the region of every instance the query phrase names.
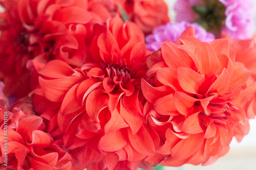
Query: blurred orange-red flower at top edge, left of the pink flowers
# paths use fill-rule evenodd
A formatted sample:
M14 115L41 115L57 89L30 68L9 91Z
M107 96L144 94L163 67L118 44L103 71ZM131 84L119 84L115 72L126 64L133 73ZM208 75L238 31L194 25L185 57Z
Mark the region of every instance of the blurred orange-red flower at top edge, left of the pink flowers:
M128 16L140 29L149 34L159 25L169 21L168 8L163 0L113 0L119 8L120 15ZM125 14L124 14L125 13ZM125 18L126 19L126 18Z

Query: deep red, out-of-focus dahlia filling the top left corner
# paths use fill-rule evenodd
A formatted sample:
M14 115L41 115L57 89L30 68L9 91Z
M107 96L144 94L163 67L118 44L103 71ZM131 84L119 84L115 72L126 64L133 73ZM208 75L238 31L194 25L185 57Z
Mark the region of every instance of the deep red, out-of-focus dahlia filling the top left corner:
M79 0L5 0L1 15L0 79L4 93L19 98L30 92L29 59L46 63L61 59L77 65L85 60L86 26L94 15L87 11L87 1ZM35 88L36 84L31 84Z

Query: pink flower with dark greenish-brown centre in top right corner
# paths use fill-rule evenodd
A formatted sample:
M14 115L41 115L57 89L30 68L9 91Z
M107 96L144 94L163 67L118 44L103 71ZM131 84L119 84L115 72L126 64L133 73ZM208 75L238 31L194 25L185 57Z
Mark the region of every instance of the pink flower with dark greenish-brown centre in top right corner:
M218 37L220 31L234 39L249 39L254 31L252 0L178 0L176 21L198 22Z

